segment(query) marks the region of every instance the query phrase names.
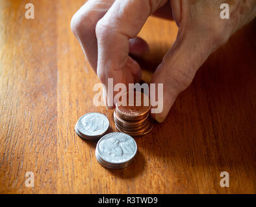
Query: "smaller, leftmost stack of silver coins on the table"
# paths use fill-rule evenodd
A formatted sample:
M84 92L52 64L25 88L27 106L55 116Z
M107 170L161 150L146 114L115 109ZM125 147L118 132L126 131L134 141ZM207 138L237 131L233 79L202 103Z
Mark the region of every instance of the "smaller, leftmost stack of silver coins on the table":
M87 113L79 118L75 132L81 138L99 138L109 129L108 118L100 113Z

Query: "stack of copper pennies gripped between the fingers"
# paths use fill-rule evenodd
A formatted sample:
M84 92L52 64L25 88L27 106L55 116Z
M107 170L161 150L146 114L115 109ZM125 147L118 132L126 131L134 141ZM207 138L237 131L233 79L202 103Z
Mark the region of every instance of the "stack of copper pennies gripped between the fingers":
M114 111L116 129L132 136L146 135L153 129L149 111L149 97L146 94L138 91L122 94Z

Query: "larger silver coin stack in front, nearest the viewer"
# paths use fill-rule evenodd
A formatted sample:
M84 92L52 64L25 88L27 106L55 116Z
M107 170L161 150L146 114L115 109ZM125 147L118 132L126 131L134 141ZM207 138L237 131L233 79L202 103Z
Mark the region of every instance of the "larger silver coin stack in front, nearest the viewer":
M103 136L96 146L97 161L105 168L122 169L133 162L137 144L133 137L114 132Z

